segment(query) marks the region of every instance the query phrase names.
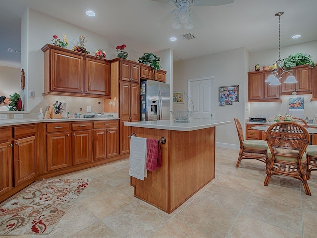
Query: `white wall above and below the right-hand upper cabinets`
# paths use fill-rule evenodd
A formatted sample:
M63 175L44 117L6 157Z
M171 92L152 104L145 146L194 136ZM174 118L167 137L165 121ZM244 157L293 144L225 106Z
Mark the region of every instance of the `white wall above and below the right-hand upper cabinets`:
M281 48L281 58L286 58L293 53L304 53L310 55L312 60L317 63L317 41L311 41L302 44ZM264 65L272 65L278 58L278 48L266 51L260 51L250 54L249 71L254 71L254 64L259 63L260 68ZM310 101L312 95L297 95L304 97L304 118L314 119L317 114L317 101ZM294 96L281 96L282 102L262 102L262 103L249 103L250 116L255 117L262 113L263 116L269 113L270 118L274 118L276 114L288 113L288 99ZM247 116L248 117L248 116Z

